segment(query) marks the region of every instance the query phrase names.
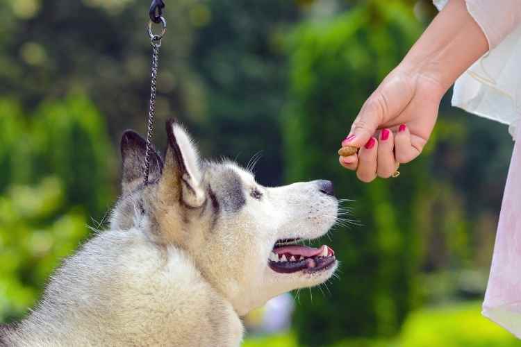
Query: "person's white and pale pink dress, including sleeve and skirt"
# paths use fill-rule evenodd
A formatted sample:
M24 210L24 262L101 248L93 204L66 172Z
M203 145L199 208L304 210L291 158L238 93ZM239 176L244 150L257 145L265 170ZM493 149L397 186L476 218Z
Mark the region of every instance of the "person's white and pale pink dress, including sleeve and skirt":
M447 0L434 0L441 10ZM452 105L508 124L515 142L483 315L521 338L521 0L466 0L490 51L454 84Z

